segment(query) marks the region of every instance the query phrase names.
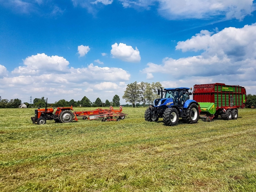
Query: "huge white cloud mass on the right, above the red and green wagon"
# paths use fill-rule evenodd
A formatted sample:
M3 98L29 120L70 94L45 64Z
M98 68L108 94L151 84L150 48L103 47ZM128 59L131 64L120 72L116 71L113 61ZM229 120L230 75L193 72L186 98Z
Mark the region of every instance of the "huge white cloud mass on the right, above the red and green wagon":
M170 74L174 85L223 82L249 89L256 84L255 24L224 28L215 34L204 30L178 42L176 49L203 53L176 60L167 57L162 64L148 63L141 72Z

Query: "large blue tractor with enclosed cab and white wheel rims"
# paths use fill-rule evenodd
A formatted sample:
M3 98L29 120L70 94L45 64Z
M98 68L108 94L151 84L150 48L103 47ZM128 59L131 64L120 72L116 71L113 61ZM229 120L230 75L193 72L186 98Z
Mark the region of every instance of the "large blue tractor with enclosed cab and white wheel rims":
M145 120L152 122L163 118L167 126L176 125L179 118L182 118L184 123L197 123L199 118L198 103L189 99L189 95L192 93L188 90L189 88L186 87L167 88L164 91L161 88L161 98L154 100L154 106L147 108L144 115ZM158 95L160 95L160 90L158 90Z

